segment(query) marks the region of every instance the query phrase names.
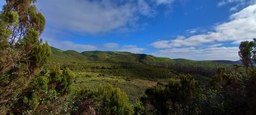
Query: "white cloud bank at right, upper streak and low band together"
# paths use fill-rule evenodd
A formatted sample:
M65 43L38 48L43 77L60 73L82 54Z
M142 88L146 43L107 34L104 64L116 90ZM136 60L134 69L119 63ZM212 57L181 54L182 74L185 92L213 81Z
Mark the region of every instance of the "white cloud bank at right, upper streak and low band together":
M228 0L227 2L243 0ZM224 4L223 4L224 5ZM189 30L189 33L196 33ZM170 58L194 60L239 60L238 47L220 47L223 43L240 44L256 37L256 5L250 5L231 14L230 20L214 26L214 31L190 37L177 36L171 40L159 40L149 44L161 50L153 53ZM229 45L229 46L230 46Z

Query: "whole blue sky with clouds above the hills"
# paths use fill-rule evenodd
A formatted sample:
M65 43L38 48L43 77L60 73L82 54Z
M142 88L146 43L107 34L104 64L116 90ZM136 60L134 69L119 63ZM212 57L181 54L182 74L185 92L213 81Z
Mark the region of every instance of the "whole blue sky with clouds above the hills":
M4 0L0 0L0 6ZM239 60L256 0L38 0L50 46L191 60Z

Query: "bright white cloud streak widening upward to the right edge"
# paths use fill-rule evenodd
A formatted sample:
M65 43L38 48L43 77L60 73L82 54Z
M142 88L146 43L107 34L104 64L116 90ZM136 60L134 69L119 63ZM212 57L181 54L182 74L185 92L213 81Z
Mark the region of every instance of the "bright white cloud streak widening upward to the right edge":
M256 36L256 5L248 6L232 14L230 21L215 26L215 32L193 35L188 38L175 40L160 40L150 45L155 48L171 48L178 46L200 46L203 43L215 41L248 40Z

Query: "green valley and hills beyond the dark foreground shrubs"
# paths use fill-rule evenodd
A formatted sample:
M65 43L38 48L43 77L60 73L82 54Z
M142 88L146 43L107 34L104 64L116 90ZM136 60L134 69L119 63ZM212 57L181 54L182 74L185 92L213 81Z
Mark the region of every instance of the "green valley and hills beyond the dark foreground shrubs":
M178 73L192 74L200 81L202 87L207 87L211 76L203 77L204 75L215 75L218 66L231 67L211 61L172 60L130 52L79 53L73 50L62 51L54 47L51 49L53 55L47 67L51 68L52 65L60 63L61 69L70 68L76 75L75 88L97 89L100 85L111 83L125 91L131 103L144 95L148 86L154 86L158 81L166 83L170 78L177 78Z

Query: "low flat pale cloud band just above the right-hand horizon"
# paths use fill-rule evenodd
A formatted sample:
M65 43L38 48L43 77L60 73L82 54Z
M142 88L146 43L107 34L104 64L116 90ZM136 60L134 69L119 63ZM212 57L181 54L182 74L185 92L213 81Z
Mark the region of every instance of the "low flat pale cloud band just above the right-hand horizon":
M164 49L152 53L160 57L169 57L172 59L185 58L190 60L239 60L238 47L220 47L220 48L207 48L196 49L195 47L189 48L173 48Z

